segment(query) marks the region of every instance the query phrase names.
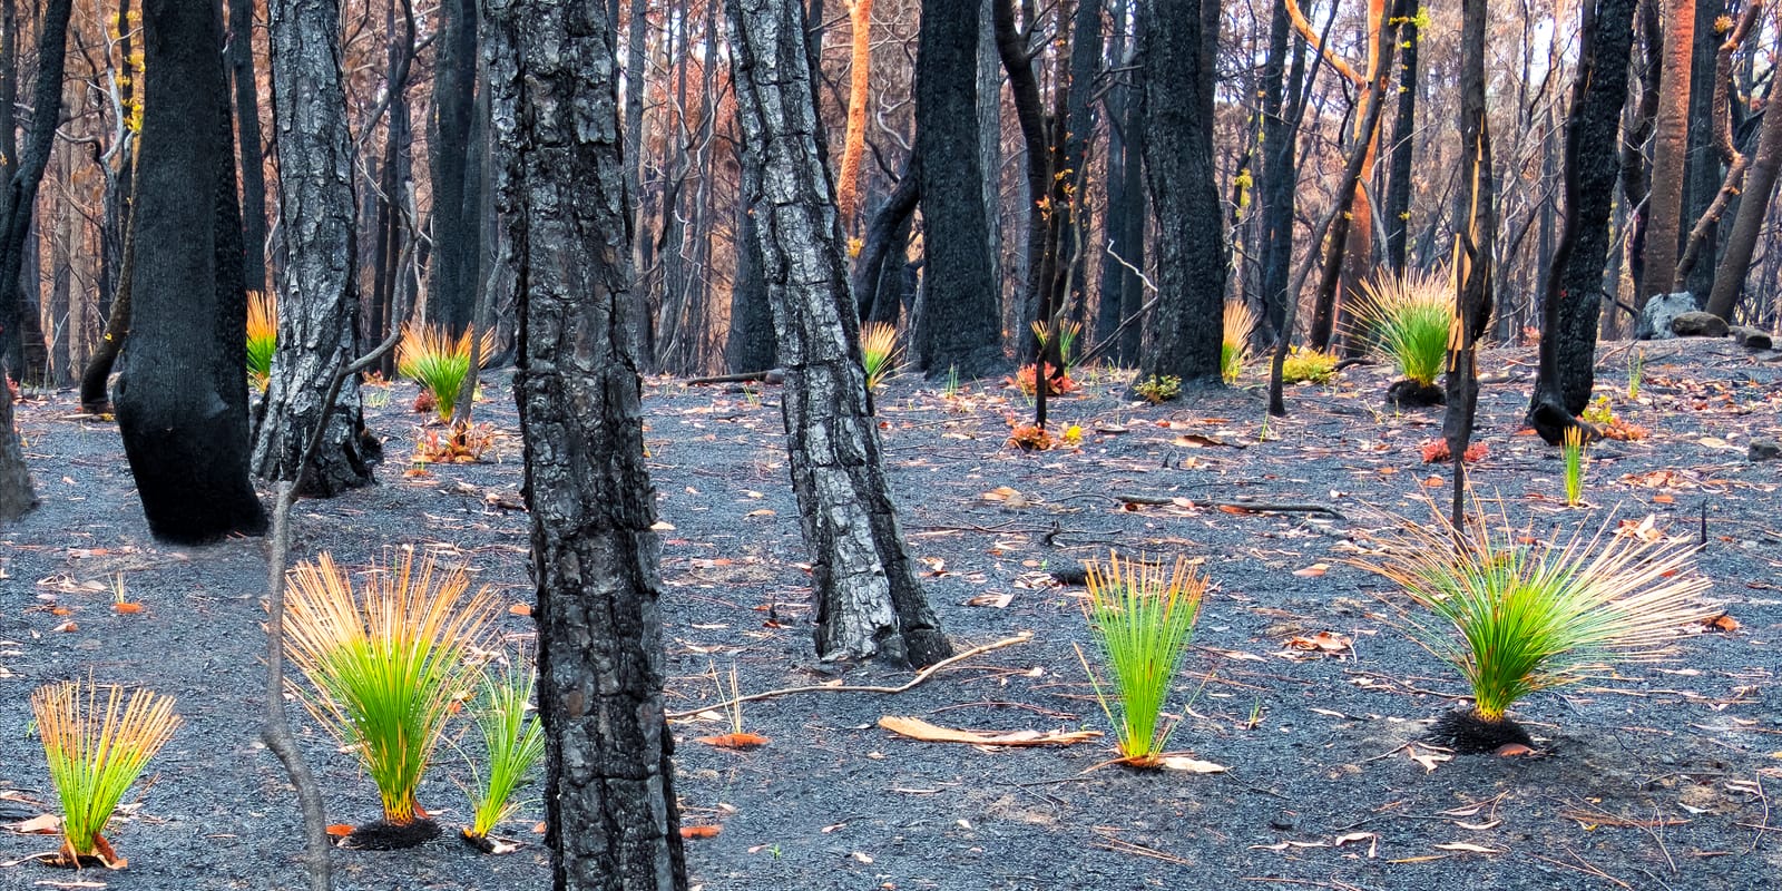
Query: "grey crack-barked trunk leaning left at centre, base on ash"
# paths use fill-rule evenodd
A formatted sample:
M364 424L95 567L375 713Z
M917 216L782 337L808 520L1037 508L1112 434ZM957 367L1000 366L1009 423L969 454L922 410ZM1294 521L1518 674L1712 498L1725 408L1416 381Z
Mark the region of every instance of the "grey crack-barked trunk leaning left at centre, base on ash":
M975 4L960 4L968 5ZM743 191L759 216L786 367L791 481L814 567L816 652L825 659L877 656L930 665L952 645L916 581L884 476L836 200L814 139L820 127L804 52L804 7L727 0L725 11L736 116L754 159L743 164ZM977 153L953 157L968 164ZM977 184L960 192L982 207ZM968 248L984 257L982 242Z

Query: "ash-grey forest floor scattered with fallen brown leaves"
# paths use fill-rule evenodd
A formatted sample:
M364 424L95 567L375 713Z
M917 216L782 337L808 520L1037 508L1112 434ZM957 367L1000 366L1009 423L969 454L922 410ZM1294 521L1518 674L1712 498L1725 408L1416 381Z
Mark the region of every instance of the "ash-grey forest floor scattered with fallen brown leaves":
M1645 351L1627 399L1629 356ZM1600 392L1638 442L1591 451L1586 501L1563 506L1557 451L1518 435L1529 349L1493 351L1472 465L1477 495L1524 529L1575 529L1648 515L1648 531L1696 540L1727 620L1693 629L1668 663L1623 665L1538 693L1515 715L1536 736L1524 757L1447 756L1420 734L1461 700L1445 665L1395 625L1397 602L1365 558L1397 515L1427 517L1447 465L1426 465L1438 410L1381 408L1390 376L1349 369L1288 392L1263 426L1249 387L1128 403L1121 380L1085 372L1055 399L1078 449L1005 444L1028 401L1000 381L943 394L916 378L879 397L886 456L909 547L959 649L1032 633L898 695L797 693L750 702L748 752L697 741L729 716L675 722L677 793L691 882L729 889L1768 889L1782 875L1782 462L1746 442L1782 435L1782 362L1730 342L1606 344ZM506 376L478 408L504 437L497 460L408 478L413 388L369 388L367 421L388 437L383 485L296 508L294 554L365 565L385 549L462 556L504 602L529 601L519 428ZM659 492L670 709L697 711L740 672L745 693L838 679L814 661L809 579L786 474L781 394L645 385ZM155 544L135 504L116 428L75 417L68 392L21 406L43 508L0 531L0 823L53 798L30 731L39 684L87 677L178 697L185 727L110 836L123 871L80 875L34 861L48 836L0 832L0 887L150 891L301 886L296 802L257 740L262 544ZM1119 495L1174 499L1128 510ZM1214 501L1320 503L1342 517L1215 508ZM1705 519L1704 519L1705 517ZM1638 529L1636 529L1638 531ZM1222 773L1099 766L1105 740L996 748L914 741L879 727L914 716L977 731L1108 729L1075 647L1091 645L1082 588L1050 572L1110 547L1185 556L1214 588L1171 711L1173 745ZM141 613L110 608L123 577ZM522 609L524 611L524 609ZM531 620L503 613L522 643ZM1310 645L1312 649L1301 649ZM902 684L862 666L845 684ZM330 816L364 822L376 795L351 757L296 715ZM467 811L451 748L422 791L444 822ZM536 795L536 788L535 788ZM1771 802L1771 795L1778 795ZM1775 807L1773 807L1775 804ZM1775 811L1775 813L1771 813ZM406 852L335 852L342 889L536 889L547 857L536 802L504 830L522 846L488 857L451 839ZM71 884L86 882L86 884Z

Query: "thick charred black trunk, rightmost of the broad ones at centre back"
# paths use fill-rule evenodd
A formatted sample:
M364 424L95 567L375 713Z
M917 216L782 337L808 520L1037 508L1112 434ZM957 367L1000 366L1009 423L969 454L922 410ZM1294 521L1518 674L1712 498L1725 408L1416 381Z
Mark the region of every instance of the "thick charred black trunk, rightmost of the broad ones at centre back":
M1219 381L1226 246L1212 144L1217 7L1217 0L1146 0L1140 7L1144 169L1158 226L1157 324L1140 380Z

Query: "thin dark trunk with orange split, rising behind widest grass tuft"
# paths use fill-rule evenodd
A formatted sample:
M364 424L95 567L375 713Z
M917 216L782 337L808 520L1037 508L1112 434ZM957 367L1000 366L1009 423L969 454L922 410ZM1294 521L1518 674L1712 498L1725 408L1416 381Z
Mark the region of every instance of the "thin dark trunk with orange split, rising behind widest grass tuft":
M1447 410L1442 437L1454 456L1451 522L1465 529L1467 444L1479 406L1477 342L1492 317L1492 248L1497 244L1497 194L1492 184L1492 132L1484 109L1486 0L1461 0L1459 27L1459 189L1454 194L1454 337L1447 355ZM1388 32L1390 34L1390 32Z

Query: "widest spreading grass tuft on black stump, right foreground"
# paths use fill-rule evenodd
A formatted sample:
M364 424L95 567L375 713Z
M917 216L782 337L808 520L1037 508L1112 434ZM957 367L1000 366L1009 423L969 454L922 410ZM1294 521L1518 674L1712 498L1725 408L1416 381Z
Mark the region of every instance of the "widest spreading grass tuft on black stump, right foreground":
M1406 608L1404 629L1472 688L1472 709L1443 715L1431 734L1456 750L1533 745L1506 716L1516 700L1614 659L1657 658L1682 625L1714 615L1688 542L1622 536L1611 519L1593 536L1524 544L1477 504L1465 531L1431 513L1406 522L1388 556L1356 565L1404 590L1418 608Z

